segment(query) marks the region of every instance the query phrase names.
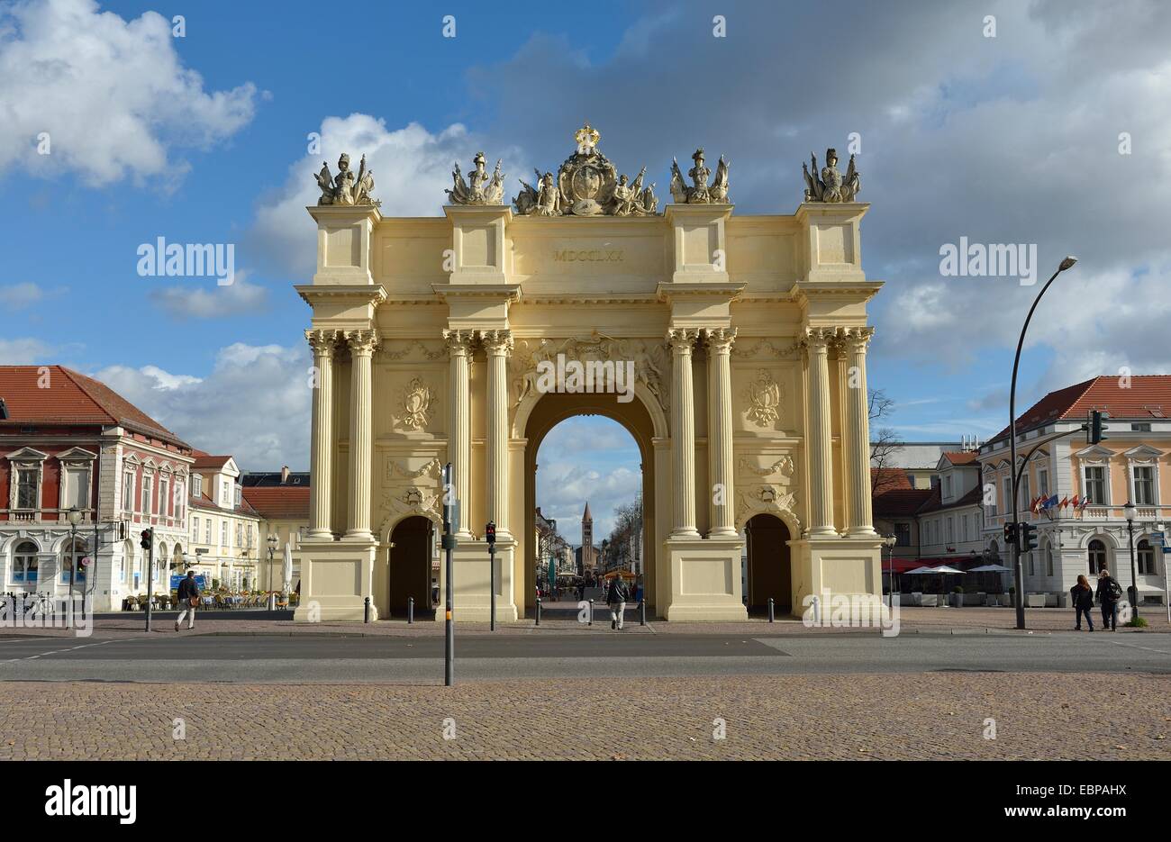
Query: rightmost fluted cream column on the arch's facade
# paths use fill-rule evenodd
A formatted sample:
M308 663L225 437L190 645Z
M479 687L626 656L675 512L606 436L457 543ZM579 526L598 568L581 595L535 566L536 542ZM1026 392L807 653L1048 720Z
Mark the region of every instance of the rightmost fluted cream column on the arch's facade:
M867 393L867 344L874 328L850 328L842 334L845 350L845 432L842 449L848 454L845 478L849 497L847 533L857 538L877 535L871 515L870 401Z

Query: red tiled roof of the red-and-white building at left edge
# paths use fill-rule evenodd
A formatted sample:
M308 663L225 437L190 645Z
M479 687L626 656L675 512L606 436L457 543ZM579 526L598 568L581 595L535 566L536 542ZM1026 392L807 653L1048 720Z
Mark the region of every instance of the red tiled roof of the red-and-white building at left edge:
M48 369L48 388L40 382ZM102 424L124 426L186 447L178 436L104 383L63 365L0 365L0 398L8 418L0 426Z

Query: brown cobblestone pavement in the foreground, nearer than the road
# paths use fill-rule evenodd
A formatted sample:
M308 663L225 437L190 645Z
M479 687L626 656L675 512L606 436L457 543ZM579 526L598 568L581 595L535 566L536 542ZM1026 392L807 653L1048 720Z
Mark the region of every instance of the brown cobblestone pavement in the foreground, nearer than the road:
M1169 690L1171 679L1149 675L1052 673L456 687L9 683L0 759L1169 760ZM582 711L596 727L582 728ZM177 718L185 740L173 739ZM726 739L713 739L717 718ZM995 739L985 737L989 718Z

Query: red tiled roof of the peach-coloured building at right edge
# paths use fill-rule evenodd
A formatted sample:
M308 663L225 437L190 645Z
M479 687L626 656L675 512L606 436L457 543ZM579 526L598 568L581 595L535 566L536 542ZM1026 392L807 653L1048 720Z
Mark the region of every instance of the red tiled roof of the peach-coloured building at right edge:
M1114 418L1171 417L1171 375L1103 375L1094 379L1049 392L1016 417L1021 433L1055 420L1084 418L1090 410L1108 412ZM992 441L1008 437L1008 427Z

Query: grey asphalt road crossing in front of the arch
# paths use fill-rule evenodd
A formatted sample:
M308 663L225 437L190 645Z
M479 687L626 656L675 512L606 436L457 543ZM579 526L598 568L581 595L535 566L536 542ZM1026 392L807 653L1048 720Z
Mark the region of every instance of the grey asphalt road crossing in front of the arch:
M433 683L439 636L0 638L0 680ZM936 671L1171 676L1171 635L458 635L457 679Z

